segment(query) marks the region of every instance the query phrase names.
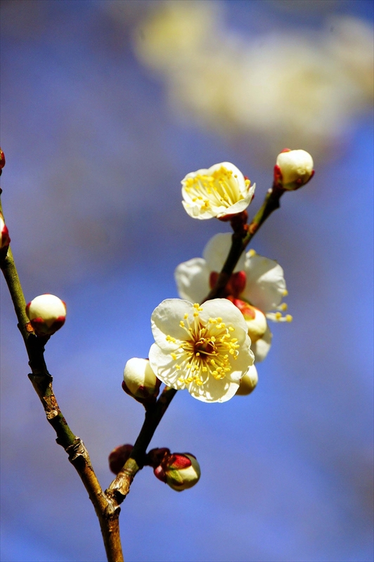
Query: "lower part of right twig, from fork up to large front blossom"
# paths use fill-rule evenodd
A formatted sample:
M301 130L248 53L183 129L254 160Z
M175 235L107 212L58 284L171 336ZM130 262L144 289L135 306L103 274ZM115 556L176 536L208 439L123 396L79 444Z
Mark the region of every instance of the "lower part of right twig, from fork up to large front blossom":
M153 438L153 434L158 424L160 424L167 407L176 395L176 392L175 388L166 386L157 402L147 407L146 417L138 438L135 441L134 449L131 451L131 457L112 481L108 490L105 490L105 494L115 499L117 504L122 504L129 493L134 476L143 468L146 460L146 450L150 444L150 440Z

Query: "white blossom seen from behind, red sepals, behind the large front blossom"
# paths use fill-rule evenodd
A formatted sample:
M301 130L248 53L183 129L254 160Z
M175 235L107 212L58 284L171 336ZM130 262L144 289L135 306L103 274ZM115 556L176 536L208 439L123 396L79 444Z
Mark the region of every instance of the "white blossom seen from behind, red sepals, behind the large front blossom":
M202 301L219 275L231 247L231 234L220 233L205 246L203 258L193 258L180 263L175 270L179 296L191 302ZM253 250L242 255L226 286L224 296L243 313L251 349L256 362L264 360L271 346L271 332L267 320L284 322L292 320L283 316L287 305L282 303L287 295L283 269L271 259Z

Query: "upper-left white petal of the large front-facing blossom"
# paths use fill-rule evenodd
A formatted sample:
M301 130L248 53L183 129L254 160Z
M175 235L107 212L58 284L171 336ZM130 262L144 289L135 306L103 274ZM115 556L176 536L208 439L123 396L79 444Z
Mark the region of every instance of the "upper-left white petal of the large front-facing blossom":
M179 322L183 320L186 313L190 315L191 320L193 311L195 311L193 305L181 299L166 299L155 308L150 317L150 324L155 342L163 351L173 351L179 347L180 341L187 339L188 334L180 327ZM167 336L175 338L176 343L167 341Z

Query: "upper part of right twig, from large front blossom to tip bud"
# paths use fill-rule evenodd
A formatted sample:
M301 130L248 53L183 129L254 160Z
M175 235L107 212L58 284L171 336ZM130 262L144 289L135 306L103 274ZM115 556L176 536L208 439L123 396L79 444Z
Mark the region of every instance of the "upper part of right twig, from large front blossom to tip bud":
M219 273L218 279L212 290L205 297L202 302L209 301L210 299L218 299L222 296L224 289L230 280L233 270L238 263L240 256L249 244L250 240L254 237L259 230L260 226L266 221L269 215L280 207L280 197L282 197L285 190L273 185L266 193L264 202L257 213L254 215L252 222L243 229L242 232L234 232L231 242L231 248L224 263L224 267Z

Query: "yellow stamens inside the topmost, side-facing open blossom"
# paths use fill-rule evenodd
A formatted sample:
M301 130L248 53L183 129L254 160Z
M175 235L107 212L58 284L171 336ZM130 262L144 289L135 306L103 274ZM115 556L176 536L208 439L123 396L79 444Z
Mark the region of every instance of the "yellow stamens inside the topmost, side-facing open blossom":
M192 202L201 205L202 211L206 211L211 205L213 207L231 207L244 199L238 186L238 176L224 166L214 170L209 176L196 174L191 178L186 178L183 185ZM249 189L250 181L245 180L245 185Z

